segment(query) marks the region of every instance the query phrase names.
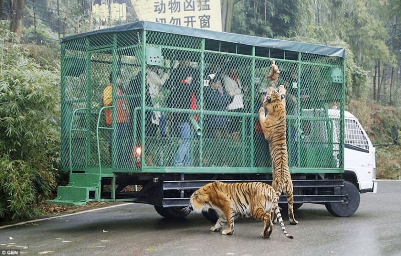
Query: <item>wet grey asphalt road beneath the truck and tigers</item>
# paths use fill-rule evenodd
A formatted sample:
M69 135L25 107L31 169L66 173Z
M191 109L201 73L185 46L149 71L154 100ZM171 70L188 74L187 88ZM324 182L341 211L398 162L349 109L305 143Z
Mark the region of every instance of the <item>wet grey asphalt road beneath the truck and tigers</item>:
M0 253L20 255L401 255L401 181L379 181L376 194L361 195L350 217L334 217L323 205L304 204L299 224L278 225L270 238L261 221L239 219L231 236L210 232L212 223L190 213L181 221L160 217L153 206L121 204L0 227ZM11 239L12 238L12 239Z

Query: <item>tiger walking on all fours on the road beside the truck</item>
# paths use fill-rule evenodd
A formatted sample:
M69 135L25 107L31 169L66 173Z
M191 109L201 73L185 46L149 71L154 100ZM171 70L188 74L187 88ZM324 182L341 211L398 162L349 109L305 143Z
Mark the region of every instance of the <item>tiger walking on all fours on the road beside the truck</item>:
M264 221L261 237L269 237L273 230L271 212L274 211L280 222L284 235L290 236L283 223L277 203L276 191L262 182L223 183L215 181L199 188L191 195L189 209L202 212L213 208L219 215L211 231L220 231L225 224L227 229L224 235L234 233L234 219L236 216L250 217Z

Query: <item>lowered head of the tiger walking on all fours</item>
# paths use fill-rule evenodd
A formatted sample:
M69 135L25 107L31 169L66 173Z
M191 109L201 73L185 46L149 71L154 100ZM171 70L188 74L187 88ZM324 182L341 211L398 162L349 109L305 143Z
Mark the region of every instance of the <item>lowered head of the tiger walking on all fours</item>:
M214 183L217 184L218 181L206 184L205 186L199 188L198 190L192 193L189 199L189 206L188 206L191 211L201 213L204 210L212 208L214 198L211 196L212 193L210 192L211 191L216 192L216 190L213 189Z

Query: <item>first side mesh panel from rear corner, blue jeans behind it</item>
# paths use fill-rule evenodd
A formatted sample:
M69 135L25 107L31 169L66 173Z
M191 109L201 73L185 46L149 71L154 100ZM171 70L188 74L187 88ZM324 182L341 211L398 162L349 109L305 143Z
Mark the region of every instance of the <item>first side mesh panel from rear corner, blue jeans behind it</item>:
M161 36L162 33L154 35ZM185 37L180 38L185 41ZM169 43L161 41L160 44ZM162 54L162 66L147 66L146 93L149 92L149 105L155 111L149 111L150 113L145 115L145 119L152 116L145 129L148 145L145 152L146 164L199 166L200 159L194 155L198 153L199 138L195 135L192 122L199 125L202 121L202 117L196 111L200 106L202 78L198 70L200 54L169 47L162 47ZM158 88L158 93L155 88ZM162 111L161 108L165 110ZM146 120L144 122L146 123Z

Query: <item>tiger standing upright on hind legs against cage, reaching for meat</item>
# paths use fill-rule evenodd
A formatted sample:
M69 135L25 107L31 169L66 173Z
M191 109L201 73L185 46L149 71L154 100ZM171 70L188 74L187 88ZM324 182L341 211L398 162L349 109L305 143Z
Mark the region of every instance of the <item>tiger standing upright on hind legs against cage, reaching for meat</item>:
M273 72L273 74L269 74L268 77L272 78L272 84L277 84L280 70L274 61L271 68L272 71L270 73ZM273 87L267 89L265 100L263 101L263 107L259 109L259 121L265 139L269 141L269 150L273 167L272 187L276 190L278 198L280 197L281 192L285 193L288 201L288 217L290 219L290 224L296 225L298 224L298 221L294 217L294 188L288 168L285 94L286 89L284 85L280 85L278 91ZM265 115L265 108L268 110L267 115ZM276 222L276 217L274 217L273 213L273 222Z

